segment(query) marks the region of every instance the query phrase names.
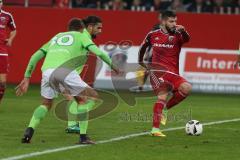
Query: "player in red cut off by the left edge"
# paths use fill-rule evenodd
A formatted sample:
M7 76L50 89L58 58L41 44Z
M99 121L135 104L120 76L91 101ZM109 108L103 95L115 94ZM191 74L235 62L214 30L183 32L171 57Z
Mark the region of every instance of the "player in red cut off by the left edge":
M0 0L0 102L4 95L8 72L8 47L16 36L16 25L10 13L2 10Z

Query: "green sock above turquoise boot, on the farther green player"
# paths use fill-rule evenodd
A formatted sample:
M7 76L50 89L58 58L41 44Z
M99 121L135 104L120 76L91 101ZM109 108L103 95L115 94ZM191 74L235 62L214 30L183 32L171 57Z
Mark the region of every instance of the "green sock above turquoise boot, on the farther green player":
M75 126L78 124L76 121L76 115L78 113L78 104L75 100L69 102L69 112L68 112L68 127Z

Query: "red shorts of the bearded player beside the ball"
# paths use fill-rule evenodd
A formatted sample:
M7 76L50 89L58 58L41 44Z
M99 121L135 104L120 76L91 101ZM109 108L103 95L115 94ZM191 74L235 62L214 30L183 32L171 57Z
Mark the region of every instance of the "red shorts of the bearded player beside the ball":
M179 86L187 82L187 80L174 73L151 72L150 82L155 94L158 95L160 92L165 93L178 90Z

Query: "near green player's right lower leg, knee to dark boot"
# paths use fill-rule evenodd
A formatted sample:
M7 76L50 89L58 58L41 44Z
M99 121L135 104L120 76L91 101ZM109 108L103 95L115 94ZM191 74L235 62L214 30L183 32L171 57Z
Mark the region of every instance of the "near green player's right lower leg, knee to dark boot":
M97 92L90 87L86 87L85 90L79 94L79 96L75 97L78 103L80 144L94 144L94 142L91 141L87 136L89 118L88 112L94 107L97 97Z

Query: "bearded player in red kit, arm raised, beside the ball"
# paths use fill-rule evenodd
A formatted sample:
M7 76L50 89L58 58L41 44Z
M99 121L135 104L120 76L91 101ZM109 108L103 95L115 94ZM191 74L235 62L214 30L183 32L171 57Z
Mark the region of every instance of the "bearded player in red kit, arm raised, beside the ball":
M179 55L181 47L190 39L184 26L177 25L173 11L164 11L160 28L151 31L139 50L139 64L150 72L150 82L158 100L153 107L153 136L165 135L160 131L160 122L166 124L167 110L184 100L191 91L191 84L179 75ZM152 61L143 62L148 47L152 47ZM169 93L171 98L167 101Z

